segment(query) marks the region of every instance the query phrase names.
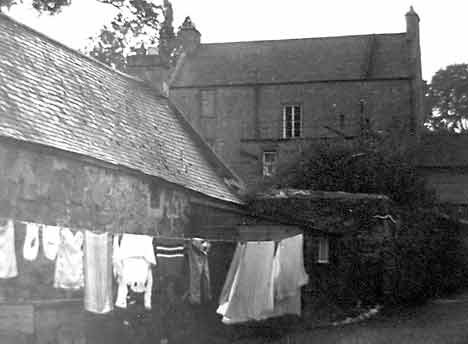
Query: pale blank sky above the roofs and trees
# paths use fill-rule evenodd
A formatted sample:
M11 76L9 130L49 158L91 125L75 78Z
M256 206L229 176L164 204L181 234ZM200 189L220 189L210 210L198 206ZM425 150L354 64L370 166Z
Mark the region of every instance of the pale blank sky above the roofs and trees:
M162 1L162 0L161 0ZM190 16L202 43L404 32L412 5L421 19L424 79L453 63L468 63L466 0L172 0L174 26ZM72 47L115 15L96 0L73 0L60 15L38 15L28 6L8 13L16 20Z

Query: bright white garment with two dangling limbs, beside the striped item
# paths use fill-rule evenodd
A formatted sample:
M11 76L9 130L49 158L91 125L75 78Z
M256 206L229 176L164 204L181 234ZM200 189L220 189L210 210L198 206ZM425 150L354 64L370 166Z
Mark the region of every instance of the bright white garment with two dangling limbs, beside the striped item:
M135 293L144 293L144 306L151 309L153 274L151 265L156 265L153 238L147 235L123 234L120 244L114 240L113 260L119 284L115 305L127 307L128 287Z

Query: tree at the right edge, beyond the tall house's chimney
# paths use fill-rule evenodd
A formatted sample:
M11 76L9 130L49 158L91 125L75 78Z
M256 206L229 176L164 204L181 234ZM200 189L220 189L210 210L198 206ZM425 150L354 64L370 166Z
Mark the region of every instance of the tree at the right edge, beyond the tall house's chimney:
M468 64L439 70L426 92L429 116L426 127L462 133L468 130Z

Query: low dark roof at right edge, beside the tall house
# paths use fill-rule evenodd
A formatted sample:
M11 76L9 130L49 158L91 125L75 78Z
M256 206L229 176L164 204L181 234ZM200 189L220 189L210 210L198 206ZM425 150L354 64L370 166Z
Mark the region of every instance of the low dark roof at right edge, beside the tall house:
M421 136L418 166L468 167L468 135L427 133Z

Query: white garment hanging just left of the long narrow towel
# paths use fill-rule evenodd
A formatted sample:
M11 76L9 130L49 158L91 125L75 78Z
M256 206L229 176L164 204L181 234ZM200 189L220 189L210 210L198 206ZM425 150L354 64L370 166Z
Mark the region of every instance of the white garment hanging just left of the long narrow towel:
M83 288L83 233L60 230L60 245L55 261L54 287L77 290Z

